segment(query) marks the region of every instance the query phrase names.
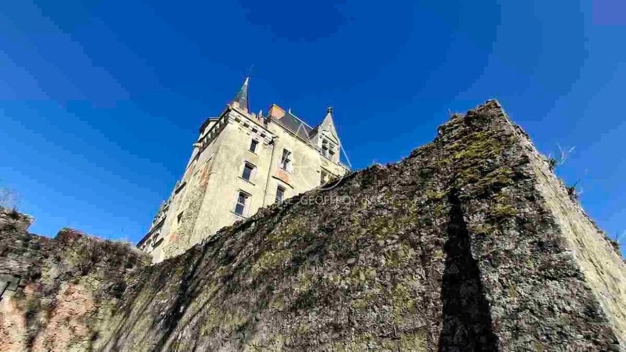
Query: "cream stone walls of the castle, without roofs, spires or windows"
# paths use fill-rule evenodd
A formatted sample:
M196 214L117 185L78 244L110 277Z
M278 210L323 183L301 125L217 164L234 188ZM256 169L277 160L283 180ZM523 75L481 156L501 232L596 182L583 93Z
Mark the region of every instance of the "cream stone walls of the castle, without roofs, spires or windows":
M259 142L254 153L249 150L253 138ZM288 170L280 167L284 149L292 153ZM160 227L158 238L150 239L158 245L145 245L145 238L140 248L155 263L183 253L220 228L275 203L279 186L288 199L320 186L322 170L331 178L346 174L349 169L338 159L338 155L337 161L322 156L318 147L280 123L265 123L236 105L229 106L201 131L183 178L170 196L165 221L151 229L156 233ZM241 177L245 163L254 166L249 181ZM240 191L249 194L244 216L235 213Z

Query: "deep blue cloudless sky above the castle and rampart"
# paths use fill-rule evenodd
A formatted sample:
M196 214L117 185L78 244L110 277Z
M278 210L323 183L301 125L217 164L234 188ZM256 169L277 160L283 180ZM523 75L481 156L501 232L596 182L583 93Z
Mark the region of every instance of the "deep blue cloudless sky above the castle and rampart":
M558 173L580 179L603 229L626 231L623 1L63 4L0 13L0 187L36 233L140 239L252 65L251 108L316 124L334 106L354 168L497 98L543 153L575 146Z

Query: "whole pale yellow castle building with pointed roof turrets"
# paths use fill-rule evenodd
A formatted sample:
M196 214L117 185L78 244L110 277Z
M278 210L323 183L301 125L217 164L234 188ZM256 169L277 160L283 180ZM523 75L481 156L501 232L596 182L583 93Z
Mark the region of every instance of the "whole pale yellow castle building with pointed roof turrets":
M155 263L349 171L332 108L315 128L275 104L267 116L254 114L248 86L249 78L217 118L202 124L185 173L137 244Z

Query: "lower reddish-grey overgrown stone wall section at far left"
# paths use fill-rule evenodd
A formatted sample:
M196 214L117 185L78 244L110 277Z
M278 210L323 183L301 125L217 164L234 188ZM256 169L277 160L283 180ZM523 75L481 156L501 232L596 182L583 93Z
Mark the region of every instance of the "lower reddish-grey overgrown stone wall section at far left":
M89 350L150 259L71 229L37 236L31 221L0 209L0 351Z

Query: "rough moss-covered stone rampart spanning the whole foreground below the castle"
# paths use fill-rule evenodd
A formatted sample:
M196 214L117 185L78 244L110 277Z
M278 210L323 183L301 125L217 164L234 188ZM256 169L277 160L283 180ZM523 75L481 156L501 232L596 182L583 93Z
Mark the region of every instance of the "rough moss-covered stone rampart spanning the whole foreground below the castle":
M626 351L622 257L496 101L153 266L3 226L3 350Z

